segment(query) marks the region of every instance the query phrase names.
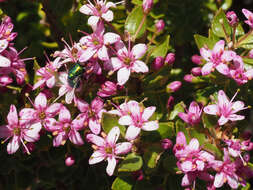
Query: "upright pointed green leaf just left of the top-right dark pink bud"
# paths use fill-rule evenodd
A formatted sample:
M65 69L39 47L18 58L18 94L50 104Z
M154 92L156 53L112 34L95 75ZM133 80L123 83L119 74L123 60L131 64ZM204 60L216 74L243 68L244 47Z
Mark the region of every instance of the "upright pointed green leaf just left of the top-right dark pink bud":
M223 26L221 24L223 22L224 29L226 30L227 35L231 35L231 27L227 21L226 15L222 9L220 9L215 15L212 22L212 30L216 36L226 37Z

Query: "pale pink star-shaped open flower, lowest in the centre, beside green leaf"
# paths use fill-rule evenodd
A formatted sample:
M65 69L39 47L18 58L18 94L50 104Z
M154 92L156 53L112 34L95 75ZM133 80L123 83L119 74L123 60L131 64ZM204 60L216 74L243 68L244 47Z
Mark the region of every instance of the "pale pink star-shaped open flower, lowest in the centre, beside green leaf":
M96 145L95 151L89 159L89 164L96 164L107 160L106 172L109 176L113 175L117 163L116 159L119 158L118 155L126 154L132 148L132 144L129 142L116 144L119 135L120 130L117 126L110 130L105 139L94 134L87 135L87 140Z

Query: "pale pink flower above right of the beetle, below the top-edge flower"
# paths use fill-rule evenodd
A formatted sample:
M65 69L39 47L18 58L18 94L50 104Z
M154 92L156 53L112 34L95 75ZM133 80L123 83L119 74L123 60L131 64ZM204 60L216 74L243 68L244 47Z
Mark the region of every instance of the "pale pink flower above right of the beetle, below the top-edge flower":
M107 46L119 41L120 36L112 32L104 34L104 30L103 23L99 22L94 33L80 39L82 47L82 50L79 52L80 62L88 61L92 56L98 57L102 61L109 60Z

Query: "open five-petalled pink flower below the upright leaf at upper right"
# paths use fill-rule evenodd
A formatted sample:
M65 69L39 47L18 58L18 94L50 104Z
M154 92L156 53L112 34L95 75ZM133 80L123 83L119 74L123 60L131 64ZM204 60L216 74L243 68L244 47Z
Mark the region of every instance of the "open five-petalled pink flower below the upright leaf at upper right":
M223 75L229 74L229 68L226 63L232 61L236 53L224 50L224 46L225 42L220 40L215 44L213 50L205 47L200 49L201 56L207 61L202 67L202 75L208 75L214 69L217 69Z

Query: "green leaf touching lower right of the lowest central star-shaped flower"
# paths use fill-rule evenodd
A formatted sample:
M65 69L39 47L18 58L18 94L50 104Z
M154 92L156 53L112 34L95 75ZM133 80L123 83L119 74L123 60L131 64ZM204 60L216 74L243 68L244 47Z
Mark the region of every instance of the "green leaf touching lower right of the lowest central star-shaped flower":
M143 164L141 156L134 153L128 154L127 157L120 163L119 172L134 172L141 169Z

